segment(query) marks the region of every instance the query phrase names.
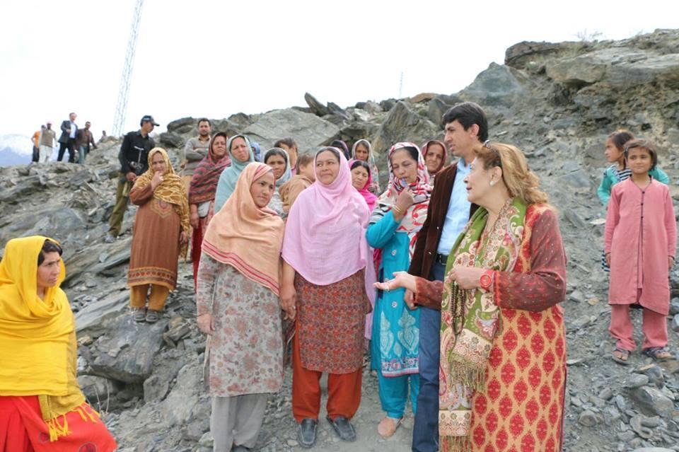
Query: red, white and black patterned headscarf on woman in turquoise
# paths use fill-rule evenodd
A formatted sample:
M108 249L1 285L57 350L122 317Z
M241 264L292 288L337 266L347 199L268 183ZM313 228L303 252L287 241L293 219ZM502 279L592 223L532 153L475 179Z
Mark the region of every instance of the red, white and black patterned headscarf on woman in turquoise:
M391 156L395 151L405 148L414 148L417 150L417 180L408 185L405 180L397 179L394 175L394 170L391 166ZM370 216L370 224L377 223L387 214L388 211L396 204L396 199L400 192L406 187L410 187L410 191L414 195L414 203L410 206L401 224L396 229L397 232L405 232L410 238L410 258L415 250L415 243L417 241L417 232L422 229L424 220L426 220L426 211L429 208L429 197L431 197L432 187L429 185L429 173L424 165L424 158L422 152L419 151L417 144L402 142L391 146L387 159L389 165L389 186L387 190L377 199L375 209Z

